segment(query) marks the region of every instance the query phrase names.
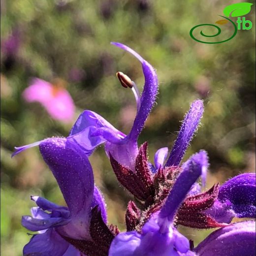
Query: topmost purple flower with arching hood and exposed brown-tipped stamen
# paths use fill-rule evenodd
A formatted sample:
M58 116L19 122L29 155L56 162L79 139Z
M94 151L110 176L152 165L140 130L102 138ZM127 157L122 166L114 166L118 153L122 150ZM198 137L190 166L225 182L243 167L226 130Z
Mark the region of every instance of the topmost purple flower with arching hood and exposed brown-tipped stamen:
M140 96L135 83L123 73L118 72L121 84L124 87L130 87L132 89L137 102L137 114L130 133L128 135L124 134L95 112L86 110L80 115L69 135L81 134L79 137L74 138L74 140L81 146L86 145L88 155L93 152L96 146L105 143L107 154L111 154L119 163L134 170L134 161L138 153L137 138L155 103L158 91L158 79L152 65L145 61L139 54L124 44L112 44L135 56L142 64L145 77L145 85ZM124 82L123 79L126 79L126 81ZM129 83L128 86L126 82ZM90 145L89 148L88 145Z

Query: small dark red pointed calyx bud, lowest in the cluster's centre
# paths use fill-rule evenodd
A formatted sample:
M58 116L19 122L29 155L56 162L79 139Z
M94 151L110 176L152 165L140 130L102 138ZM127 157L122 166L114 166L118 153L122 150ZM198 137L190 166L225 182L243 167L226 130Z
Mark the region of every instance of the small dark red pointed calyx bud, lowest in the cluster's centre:
M126 227L127 231L136 229L140 221L140 210L133 201L128 202L126 211Z

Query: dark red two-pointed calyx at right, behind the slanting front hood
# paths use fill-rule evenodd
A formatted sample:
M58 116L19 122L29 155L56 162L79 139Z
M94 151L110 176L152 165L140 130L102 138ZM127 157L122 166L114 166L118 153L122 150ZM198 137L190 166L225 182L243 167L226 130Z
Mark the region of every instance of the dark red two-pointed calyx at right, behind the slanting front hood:
M226 224L216 222L212 217L203 213L215 202L219 193L219 184L214 185L210 190L186 198L178 210L176 224L193 228L221 227Z

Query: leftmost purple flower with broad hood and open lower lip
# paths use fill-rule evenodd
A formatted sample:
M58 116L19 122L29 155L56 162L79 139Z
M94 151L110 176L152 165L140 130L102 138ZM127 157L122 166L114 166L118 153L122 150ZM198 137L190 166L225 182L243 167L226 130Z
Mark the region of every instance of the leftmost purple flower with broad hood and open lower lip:
M32 208L32 217L23 216L22 224L40 233L34 235L24 247L24 255L54 253L56 256L78 256L81 252L67 240L83 239L85 243L92 243L91 219L94 218L94 213L100 212L101 226L107 228L104 224L105 203L94 186L91 164L85 152L66 138L45 139L40 143L39 149L59 184L67 207L32 196L38 207ZM67 250L70 250L69 254L64 254Z

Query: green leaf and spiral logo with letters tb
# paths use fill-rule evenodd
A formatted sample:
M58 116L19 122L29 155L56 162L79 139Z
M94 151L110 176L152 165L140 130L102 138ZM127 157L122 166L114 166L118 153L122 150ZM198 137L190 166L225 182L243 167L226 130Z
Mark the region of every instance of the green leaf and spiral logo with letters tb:
M240 16L244 16L244 15L248 14L251 11L251 6L252 5L253 5L253 3L250 3L250 2L234 3L234 4L231 4L231 5L228 5L224 8L223 13L224 13L225 16L219 15L220 17L222 17L224 19L216 21L215 24L218 24L220 26L225 25L227 23L232 24L232 28L234 29L234 32L229 38L227 38L225 40L222 40L222 41L219 41L219 42L205 42L205 41L196 39L194 37L194 35L193 35L194 30L196 28L202 27L202 26L210 26L214 29L217 29L217 32L215 34L208 35L208 34L205 34L201 30L200 31L201 36L211 38L211 37L215 37L215 36L220 35L221 32L222 32L221 28L217 25L214 25L214 24L200 24L200 25L194 26L190 31L190 36L192 37L192 39L194 39L195 41L200 42L200 43L214 44L214 43L224 43L226 41L229 41L233 37L235 37L235 35L237 33L237 30L241 30L241 29L242 30L250 30L250 29L252 29L252 27L253 27L252 22L250 20L246 20L245 17L242 17L242 19L240 17ZM235 22L233 22L231 19L229 19L229 16L230 17L238 17L237 20L236 20L237 25L236 25Z

